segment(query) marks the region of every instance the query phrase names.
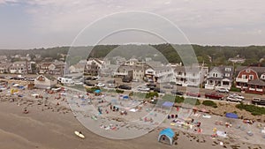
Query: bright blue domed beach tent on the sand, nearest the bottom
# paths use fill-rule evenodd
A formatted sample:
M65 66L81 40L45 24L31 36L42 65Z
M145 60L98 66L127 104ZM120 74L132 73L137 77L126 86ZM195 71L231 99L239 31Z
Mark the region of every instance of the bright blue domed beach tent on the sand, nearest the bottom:
M170 128L164 129L159 133L158 141L167 145L172 145L174 140L175 132Z

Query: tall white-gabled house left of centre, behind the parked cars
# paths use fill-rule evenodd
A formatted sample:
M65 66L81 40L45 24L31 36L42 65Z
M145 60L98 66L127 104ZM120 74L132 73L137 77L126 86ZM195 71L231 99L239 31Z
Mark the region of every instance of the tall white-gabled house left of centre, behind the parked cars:
M103 63L104 61L98 58L90 58L86 63L84 72L91 76L97 76L99 75Z

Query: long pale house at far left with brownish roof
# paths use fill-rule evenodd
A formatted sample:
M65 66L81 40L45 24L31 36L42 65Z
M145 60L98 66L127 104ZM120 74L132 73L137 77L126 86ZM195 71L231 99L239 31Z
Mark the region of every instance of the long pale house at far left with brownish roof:
M31 64L27 61L14 62L11 64L10 73L27 74L32 72Z

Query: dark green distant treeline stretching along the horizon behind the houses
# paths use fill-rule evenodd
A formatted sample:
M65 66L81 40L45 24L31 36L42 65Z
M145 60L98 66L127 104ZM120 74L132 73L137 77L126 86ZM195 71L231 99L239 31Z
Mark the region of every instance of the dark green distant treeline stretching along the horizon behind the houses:
M174 45L178 48L187 48L188 45ZM194 52L197 56L199 63L207 63L208 65L231 65L233 63L228 62L231 57L239 56L246 58L246 62L243 65L257 65L265 66L263 58L265 56L265 46L248 46L248 47L228 47L228 46L200 46L192 45ZM153 49L152 49L153 48ZM113 50L114 49L114 50ZM90 52L91 57L102 58L105 56L125 56L130 58L135 57L151 57L155 59L155 52L161 53L170 63L180 63L181 58L178 53L170 44L157 44L157 45L98 45L93 47L74 47L71 54L72 59L84 59L87 58L86 54ZM112 52L116 50L115 52ZM142 52L145 51L143 56ZM34 55L41 55L42 57L52 57L54 59L61 58L61 54L66 55L69 51L69 47L55 47L55 48L34 48L34 49L0 49L0 55L14 56L14 55L26 55L29 54L34 58ZM121 52L123 51L123 52ZM125 51L125 52L124 52ZM86 53L86 54L84 54ZM137 56L139 55L139 56Z

